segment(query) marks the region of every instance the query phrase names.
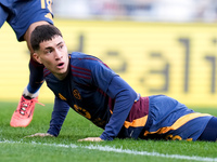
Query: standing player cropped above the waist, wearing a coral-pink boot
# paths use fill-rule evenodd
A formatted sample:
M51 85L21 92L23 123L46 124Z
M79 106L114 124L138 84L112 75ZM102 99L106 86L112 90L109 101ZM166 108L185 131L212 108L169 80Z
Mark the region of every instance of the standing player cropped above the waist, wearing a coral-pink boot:
M18 41L26 41L30 52L29 83L24 89L16 110L11 119L11 126L27 126L38 102L39 89L43 82L43 66L33 59L30 33L34 28L42 24L53 24L52 0L1 0L0 1L0 28L8 22L14 30Z

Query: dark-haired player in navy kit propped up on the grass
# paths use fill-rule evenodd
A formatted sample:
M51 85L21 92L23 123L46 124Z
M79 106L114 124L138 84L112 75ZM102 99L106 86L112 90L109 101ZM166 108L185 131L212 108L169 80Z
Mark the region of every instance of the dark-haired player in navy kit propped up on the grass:
M44 65L44 80L55 95L50 129L33 136L58 136L69 106L104 129L101 141L118 138L212 140L217 118L199 113L165 95L141 97L99 58L68 55L61 31L51 25L36 27L30 39L34 58Z

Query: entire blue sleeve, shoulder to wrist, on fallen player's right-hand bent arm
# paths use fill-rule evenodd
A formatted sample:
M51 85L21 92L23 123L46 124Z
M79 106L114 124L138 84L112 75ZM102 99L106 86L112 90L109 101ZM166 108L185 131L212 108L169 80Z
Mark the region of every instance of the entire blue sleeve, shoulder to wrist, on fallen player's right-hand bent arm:
M137 98L137 93L125 80L101 62L94 64L91 71L93 84L115 100L113 114L100 136L104 140L113 140L124 125Z

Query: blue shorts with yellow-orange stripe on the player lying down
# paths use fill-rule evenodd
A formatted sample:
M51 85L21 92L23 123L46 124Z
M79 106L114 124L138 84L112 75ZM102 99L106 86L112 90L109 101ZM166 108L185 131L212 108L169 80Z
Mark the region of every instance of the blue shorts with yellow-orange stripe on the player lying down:
M186 105L165 95L150 96L144 138L196 140L210 114L194 112Z

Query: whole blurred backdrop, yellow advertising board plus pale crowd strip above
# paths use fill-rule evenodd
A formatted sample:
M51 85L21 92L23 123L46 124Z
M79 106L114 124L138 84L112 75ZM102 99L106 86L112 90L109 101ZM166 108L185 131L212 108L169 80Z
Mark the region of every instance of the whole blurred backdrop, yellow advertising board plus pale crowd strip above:
M217 107L216 0L53 0L52 11L69 53L101 58L142 96ZM0 46L0 100L18 102L29 53L7 23ZM53 102L46 83L39 100Z

